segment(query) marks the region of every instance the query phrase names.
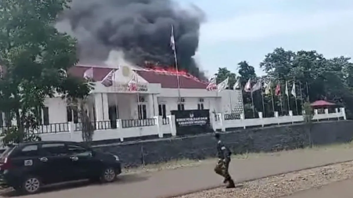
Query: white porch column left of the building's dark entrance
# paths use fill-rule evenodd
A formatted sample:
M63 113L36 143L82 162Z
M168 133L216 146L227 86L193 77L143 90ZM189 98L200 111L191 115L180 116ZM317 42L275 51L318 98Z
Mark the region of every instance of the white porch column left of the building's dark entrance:
M106 121L109 119L107 93L95 94L95 110L97 121Z

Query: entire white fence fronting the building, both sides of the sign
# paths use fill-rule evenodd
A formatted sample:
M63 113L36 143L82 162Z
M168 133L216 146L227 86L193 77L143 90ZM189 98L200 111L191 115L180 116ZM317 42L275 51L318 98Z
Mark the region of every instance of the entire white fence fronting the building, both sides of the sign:
M238 119L240 117L240 119ZM264 127L269 125L280 125L285 123L302 122L303 116L294 116L290 111L289 116L278 116L275 112L275 117L263 118L259 112L259 118L244 119L244 115L231 116L224 119L225 114L216 113L211 116L211 125L214 130L222 130L232 128L247 128L251 126ZM346 119L345 109L336 109L335 113L319 114L315 110L313 120L328 120L328 119ZM124 123L124 124L123 124ZM166 118L155 116L145 120L121 120L112 121L96 121L93 122L95 132L94 141L119 139L124 141L125 138L136 138L144 136L158 136L162 138L164 135L175 136L177 130L175 128L175 119L173 115L168 115ZM82 141L81 123L54 123L48 126L41 126L35 133L40 135L42 140L67 140L67 141ZM0 129L3 130L3 129ZM1 137L0 137L1 139Z

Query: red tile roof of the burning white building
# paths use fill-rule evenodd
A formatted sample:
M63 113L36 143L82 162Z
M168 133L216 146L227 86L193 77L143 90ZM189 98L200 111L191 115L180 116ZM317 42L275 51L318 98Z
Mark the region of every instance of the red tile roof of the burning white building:
M83 73L91 67L74 66L69 69L69 74L83 78ZM93 80L101 81L113 68L93 66ZM160 83L162 88L178 88L177 75L175 73L160 72L153 70L136 70L136 72L149 83ZM180 88L206 89L207 83L190 75L179 76Z

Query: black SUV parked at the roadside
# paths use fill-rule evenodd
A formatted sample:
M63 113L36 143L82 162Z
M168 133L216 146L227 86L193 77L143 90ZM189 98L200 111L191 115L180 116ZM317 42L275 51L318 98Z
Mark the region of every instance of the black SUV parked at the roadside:
M20 143L9 146L0 159L0 182L24 193L81 179L113 182L120 173L118 156L93 151L78 142Z

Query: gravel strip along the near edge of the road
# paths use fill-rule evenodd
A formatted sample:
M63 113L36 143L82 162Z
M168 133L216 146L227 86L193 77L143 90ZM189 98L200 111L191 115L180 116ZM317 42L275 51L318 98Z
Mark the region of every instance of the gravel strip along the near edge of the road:
M353 162L245 182L235 189L216 188L174 198L275 198L349 178L353 178Z

